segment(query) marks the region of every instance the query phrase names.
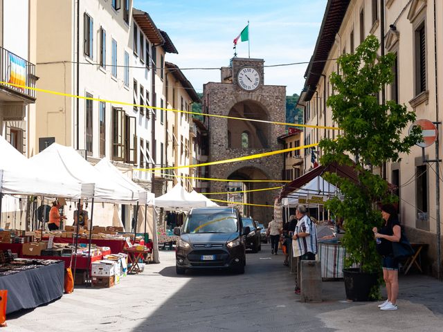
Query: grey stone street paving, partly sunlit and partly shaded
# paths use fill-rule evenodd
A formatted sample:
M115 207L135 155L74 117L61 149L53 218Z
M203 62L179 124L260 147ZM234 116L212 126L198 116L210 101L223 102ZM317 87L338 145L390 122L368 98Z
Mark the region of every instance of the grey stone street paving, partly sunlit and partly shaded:
M8 317L2 331L443 331L443 283L400 279L399 310L347 302L343 282L323 282L323 302L293 294L293 275L269 245L246 255L244 275L219 271L175 274L174 252L161 264L113 288L77 288L70 295Z

